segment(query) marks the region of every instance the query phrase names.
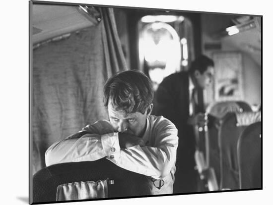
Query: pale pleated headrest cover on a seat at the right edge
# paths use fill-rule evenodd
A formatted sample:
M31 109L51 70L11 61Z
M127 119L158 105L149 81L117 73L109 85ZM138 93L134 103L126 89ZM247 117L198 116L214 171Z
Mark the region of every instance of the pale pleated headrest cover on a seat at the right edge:
M237 124L236 124L237 127L248 126L255 122L260 122L262 121L261 111L236 113L236 120L237 120Z

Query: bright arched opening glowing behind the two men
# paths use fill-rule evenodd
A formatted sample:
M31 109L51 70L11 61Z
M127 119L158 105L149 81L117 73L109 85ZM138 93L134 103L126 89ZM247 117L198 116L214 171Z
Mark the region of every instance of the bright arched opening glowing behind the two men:
M144 26L139 38L139 57L147 61L153 89L164 77L180 70L181 45L175 29L163 22Z

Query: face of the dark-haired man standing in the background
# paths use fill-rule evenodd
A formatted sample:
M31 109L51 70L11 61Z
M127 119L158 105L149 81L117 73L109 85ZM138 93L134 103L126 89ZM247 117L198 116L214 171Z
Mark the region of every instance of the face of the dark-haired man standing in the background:
M214 69L212 66L208 66L206 71L201 74L198 70L195 71L195 78L200 88L205 89L210 85L213 80Z

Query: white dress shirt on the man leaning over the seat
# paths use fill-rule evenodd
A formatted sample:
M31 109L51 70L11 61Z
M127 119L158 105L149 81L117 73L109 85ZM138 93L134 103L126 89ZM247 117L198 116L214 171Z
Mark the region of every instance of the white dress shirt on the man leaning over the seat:
M106 157L124 169L148 176L150 194L172 194L178 137L171 121L150 115L142 137L145 146L127 149L120 148L118 133L107 120L87 125L82 131L88 134L54 143L45 154L46 165Z

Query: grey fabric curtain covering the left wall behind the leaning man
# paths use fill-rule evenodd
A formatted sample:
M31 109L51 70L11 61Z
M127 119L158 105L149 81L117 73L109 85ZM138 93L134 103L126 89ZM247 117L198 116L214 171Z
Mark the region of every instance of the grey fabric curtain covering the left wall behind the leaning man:
M99 24L33 50L31 99L32 174L45 152L86 124L108 119L103 86L127 70L112 8L97 7Z

